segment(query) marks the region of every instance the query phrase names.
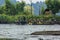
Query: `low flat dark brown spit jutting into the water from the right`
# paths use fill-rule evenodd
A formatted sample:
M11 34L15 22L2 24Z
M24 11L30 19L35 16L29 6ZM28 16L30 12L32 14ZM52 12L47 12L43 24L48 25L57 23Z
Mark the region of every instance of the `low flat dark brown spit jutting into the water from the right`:
M31 35L60 35L60 31L38 31L31 33Z

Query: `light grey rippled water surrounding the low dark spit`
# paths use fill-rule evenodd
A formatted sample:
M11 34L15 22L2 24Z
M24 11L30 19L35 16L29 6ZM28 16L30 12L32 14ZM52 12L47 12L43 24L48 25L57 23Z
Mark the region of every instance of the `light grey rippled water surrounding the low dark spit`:
M15 25L0 24L0 38L15 38L18 40L60 40L60 36L29 35L36 31L59 31L60 25Z

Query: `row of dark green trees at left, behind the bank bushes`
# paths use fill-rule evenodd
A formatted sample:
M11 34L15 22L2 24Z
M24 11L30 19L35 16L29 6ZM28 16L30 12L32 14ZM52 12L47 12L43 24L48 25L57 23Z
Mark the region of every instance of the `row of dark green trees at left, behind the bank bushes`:
M29 5L28 5L29 6ZM25 14L25 9L27 11L31 11L31 6L27 7L26 3L24 1L17 2L16 5L12 4L10 0L5 0L5 5L0 6L0 14L6 14L6 15L16 15L16 14ZM31 12L28 12L28 14Z

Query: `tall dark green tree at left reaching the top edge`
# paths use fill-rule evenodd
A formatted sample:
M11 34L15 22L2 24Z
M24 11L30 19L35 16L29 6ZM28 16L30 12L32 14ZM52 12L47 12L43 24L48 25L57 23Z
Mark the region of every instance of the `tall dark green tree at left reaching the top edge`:
M16 7L10 3L10 0L5 0L5 11L8 15L15 15L16 14Z

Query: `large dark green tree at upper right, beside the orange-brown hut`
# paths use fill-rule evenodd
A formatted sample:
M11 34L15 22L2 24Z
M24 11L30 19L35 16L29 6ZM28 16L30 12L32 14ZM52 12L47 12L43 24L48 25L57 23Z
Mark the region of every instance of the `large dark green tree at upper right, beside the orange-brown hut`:
M47 8L52 10L53 14L56 14L60 10L60 1L59 0L45 0Z

